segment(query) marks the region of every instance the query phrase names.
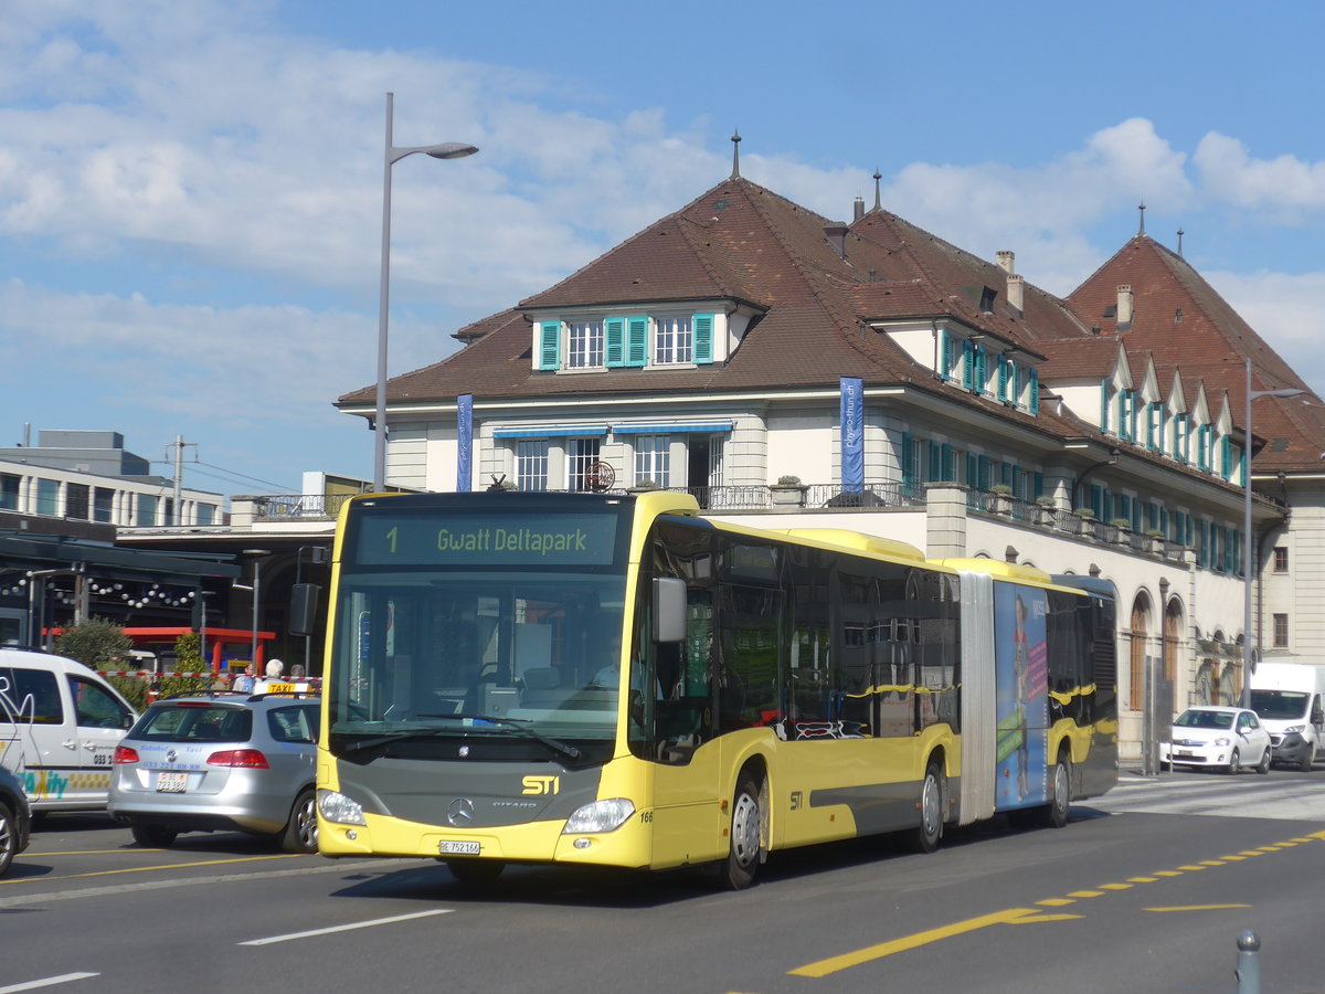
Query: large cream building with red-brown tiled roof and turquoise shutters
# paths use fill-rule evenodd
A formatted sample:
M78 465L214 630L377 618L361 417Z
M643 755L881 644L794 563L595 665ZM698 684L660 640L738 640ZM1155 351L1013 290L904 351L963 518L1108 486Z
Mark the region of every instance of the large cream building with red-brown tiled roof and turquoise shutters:
M1134 757L1146 709L1170 706L1154 693L1165 680L1179 708L1240 693L1244 359L1253 391L1306 388L1143 235L1063 300L1023 280L1011 252L978 258L884 211L877 192L841 223L734 170L454 337L458 353L387 384L395 485L684 488L749 524L1100 577L1118 598ZM859 478L843 469L844 378L864 396ZM473 459L457 478L461 395ZM1272 626L1267 656L1325 648L1275 573L1322 551L1325 408L1308 399L1255 407L1253 549L1268 566L1253 631ZM338 407L371 417L374 400L370 386Z

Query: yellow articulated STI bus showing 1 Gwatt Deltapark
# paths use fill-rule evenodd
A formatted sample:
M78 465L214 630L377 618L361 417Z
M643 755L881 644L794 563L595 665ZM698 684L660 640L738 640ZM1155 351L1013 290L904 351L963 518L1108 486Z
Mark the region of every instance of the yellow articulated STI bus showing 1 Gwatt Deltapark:
M346 504L318 744L319 848L714 864L1007 812L1063 826L1117 779L1105 584L926 562L685 494Z

